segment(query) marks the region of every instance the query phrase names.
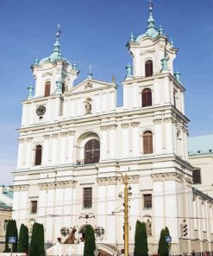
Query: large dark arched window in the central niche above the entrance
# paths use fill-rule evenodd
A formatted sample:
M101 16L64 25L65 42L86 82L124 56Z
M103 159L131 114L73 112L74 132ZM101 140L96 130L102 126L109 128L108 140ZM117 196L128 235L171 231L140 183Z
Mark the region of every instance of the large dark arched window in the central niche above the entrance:
M98 163L100 158L100 142L91 139L85 144L85 164Z

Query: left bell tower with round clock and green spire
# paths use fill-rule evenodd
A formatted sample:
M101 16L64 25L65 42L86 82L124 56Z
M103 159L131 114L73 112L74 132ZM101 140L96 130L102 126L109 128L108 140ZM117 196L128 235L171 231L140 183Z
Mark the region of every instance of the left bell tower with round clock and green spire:
M28 86L28 99L22 102L22 126L45 124L62 116L64 95L72 89L79 71L76 63L61 54L60 34L58 27L52 53L41 61L36 57L31 66L35 85Z

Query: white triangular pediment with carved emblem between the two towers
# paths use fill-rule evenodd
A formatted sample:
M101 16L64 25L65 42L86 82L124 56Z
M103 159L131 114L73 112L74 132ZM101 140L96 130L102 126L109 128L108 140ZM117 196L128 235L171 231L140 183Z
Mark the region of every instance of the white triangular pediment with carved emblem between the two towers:
M72 87L72 89L67 94L78 94L78 93L88 93L94 91L101 91L101 90L109 90L115 89L115 83L107 83L99 80L84 80L77 86Z

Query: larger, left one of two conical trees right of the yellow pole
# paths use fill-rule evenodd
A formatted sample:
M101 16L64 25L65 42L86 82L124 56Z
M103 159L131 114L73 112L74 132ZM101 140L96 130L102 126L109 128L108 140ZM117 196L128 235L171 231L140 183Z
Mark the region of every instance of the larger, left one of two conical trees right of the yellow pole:
M135 256L147 256L147 231L145 222L137 221L135 226Z

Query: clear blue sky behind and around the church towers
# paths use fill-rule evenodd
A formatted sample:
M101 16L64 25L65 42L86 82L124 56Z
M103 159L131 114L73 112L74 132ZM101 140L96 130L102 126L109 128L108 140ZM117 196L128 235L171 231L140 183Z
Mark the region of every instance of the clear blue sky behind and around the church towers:
M190 136L213 133L213 1L153 0L156 26L179 48L174 67L185 85L185 111L191 119ZM34 85L34 58L53 49L56 26L61 24L62 54L76 61L80 82L91 65L97 80L122 81L131 57L125 48L130 31L147 28L147 0L1 0L0 1L0 184L11 184L16 168L17 131L22 99Z

